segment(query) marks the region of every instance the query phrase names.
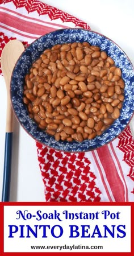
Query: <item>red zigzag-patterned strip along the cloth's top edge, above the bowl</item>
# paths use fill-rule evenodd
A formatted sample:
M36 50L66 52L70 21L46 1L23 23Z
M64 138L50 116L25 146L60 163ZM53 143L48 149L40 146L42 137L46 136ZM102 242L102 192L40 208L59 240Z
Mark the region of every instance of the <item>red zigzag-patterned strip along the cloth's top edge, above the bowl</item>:
M51 20L60 18L62 22L73 22L77 27L90 30L90 26L86 22L45 3L36 0L0 0L0 4L9 2L13 2L16 8L25 7L28 13L37 11L39 15L48 14Z

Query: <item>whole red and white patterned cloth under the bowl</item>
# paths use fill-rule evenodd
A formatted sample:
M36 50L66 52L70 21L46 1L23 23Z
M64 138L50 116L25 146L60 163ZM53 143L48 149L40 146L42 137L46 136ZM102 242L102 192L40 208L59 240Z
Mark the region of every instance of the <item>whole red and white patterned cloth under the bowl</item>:
M0 0L0 55L9 40L27 46L59 28L90 26L36 0ZM0 73L2 73L0 69ZM55 151L36 143L46 201L134 201L134 143L129 126L98 150Z

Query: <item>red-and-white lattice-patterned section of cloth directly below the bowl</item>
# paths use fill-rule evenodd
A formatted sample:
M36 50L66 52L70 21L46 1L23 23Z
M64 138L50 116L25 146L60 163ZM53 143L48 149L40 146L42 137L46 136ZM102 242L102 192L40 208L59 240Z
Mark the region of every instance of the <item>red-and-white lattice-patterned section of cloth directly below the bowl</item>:
M100 201L101 191L84 153L55 151L36 142L46 201Z

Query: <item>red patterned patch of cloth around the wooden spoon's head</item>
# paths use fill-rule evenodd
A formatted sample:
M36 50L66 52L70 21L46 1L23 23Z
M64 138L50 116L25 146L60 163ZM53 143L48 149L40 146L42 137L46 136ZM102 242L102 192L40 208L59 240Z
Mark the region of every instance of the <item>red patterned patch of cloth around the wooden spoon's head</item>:
M0 32L0 57L1 57L1 53L2 53L2 49L5 47L5 44L7 44L10 40L14 40L16 38L8 38L8 36L6 36L3 32ZM27 42L22 42L23 46L26 48L28 46ZM0 74L2 73L1 70L1 62L0 62Z

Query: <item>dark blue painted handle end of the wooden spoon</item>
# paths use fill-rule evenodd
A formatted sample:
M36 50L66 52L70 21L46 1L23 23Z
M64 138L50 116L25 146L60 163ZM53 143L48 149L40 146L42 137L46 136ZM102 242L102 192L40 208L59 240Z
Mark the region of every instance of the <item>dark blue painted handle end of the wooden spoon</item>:
M12 134L6 133L5 137L2 202L9 202L10 197Z

